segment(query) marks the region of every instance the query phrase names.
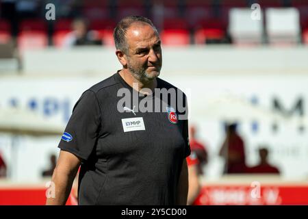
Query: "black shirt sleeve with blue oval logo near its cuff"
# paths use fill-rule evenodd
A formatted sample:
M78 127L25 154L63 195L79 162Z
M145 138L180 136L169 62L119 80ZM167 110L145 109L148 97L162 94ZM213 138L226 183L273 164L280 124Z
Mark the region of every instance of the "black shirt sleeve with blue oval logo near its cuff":
M99 101L92 90L86 90L73 108L58 147L87 160L94 150L100 127Z

